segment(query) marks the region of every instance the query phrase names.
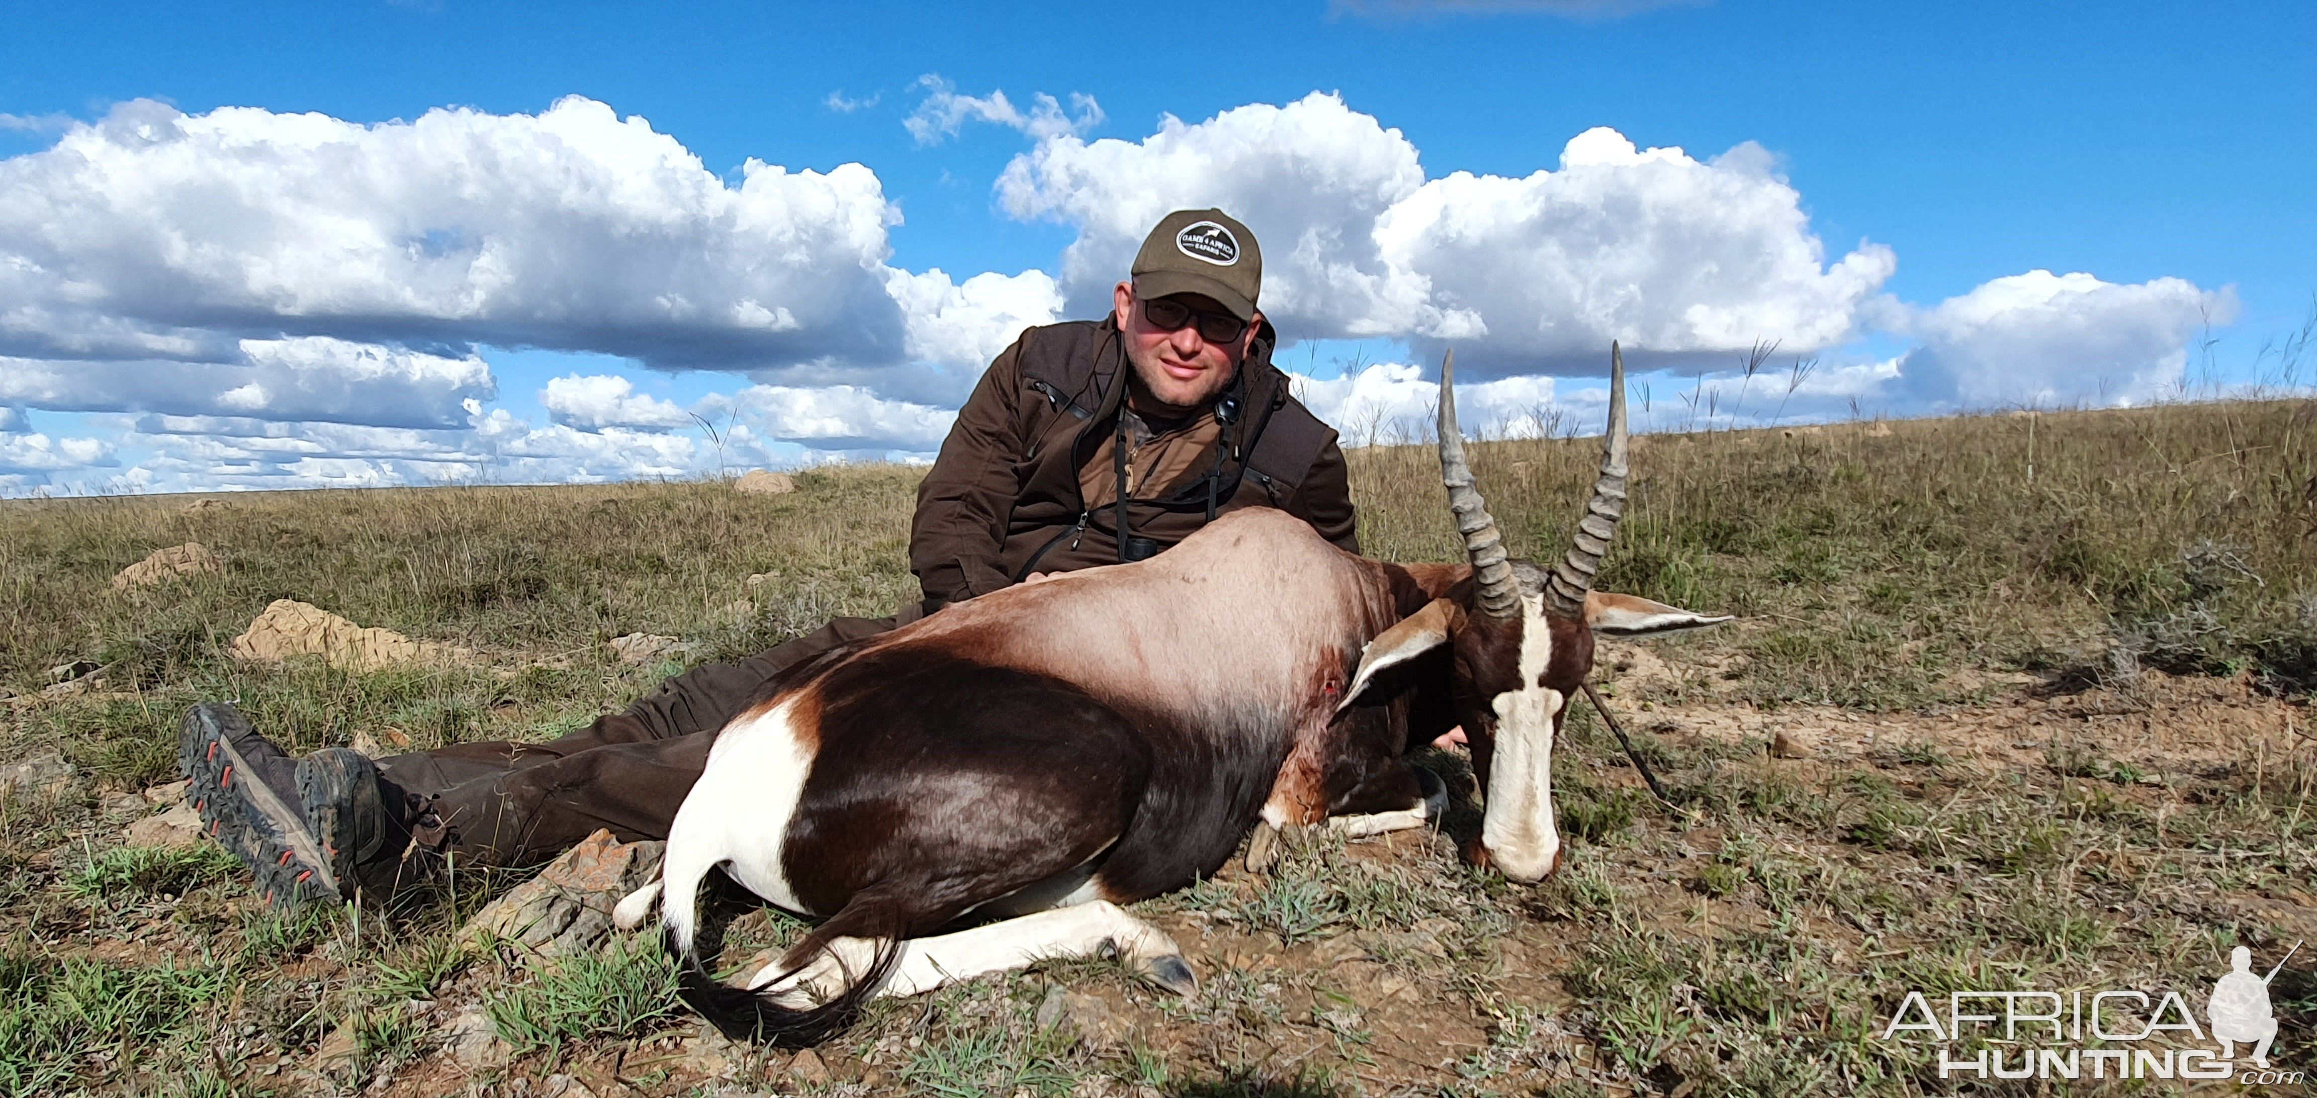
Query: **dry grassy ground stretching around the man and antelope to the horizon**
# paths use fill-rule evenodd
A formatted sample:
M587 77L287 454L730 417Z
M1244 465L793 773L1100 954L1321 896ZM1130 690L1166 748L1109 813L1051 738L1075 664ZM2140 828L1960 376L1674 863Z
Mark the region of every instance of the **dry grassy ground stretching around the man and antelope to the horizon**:
M1557 554L1596 445L1474 449L1513 549ZM1430 452L1351 461L1369 554L1453 556ZM1441 839L1311 841L1149 903L1193 1001L1054 964L883 1003L802 1063L702 1038L653 950L459 950L507 880L280 920L215 852L120 827L199 697L299 748L542 739L684 660L885 614L913 591L913 470L0 505L0 760L83 778L0 808L0 1091L1949 1093L1976 1084L1879 1038L1907 989L2178 987L2201 1012L2229 945L2317 940L2317 405L1650 435L1633 466L1603 586L1742 614L1596 672L1675 806L1578 709L1576 848L1538 890ZM111 588L188 540L225 570ZM276 598L477 660L229 660ZM693 649L605 653L637 630ZM46 697L81 660L102 683ZM2303 961L2275 1059L2312 1070ZM454 1054L475 1017L503 1042L482 1066ZM1979 1089L2039 1093L2002 1086Z

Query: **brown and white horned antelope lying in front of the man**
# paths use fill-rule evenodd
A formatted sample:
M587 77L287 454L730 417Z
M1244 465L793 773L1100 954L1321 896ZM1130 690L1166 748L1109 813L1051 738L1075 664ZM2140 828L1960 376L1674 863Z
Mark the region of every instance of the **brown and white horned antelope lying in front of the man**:
M684 998L774 1042L820 1040L876 994L1101 950L1189 994L1175 943L1119 903L1214 873L1258 820L1423 822L1402 755L1450 725L1488 801L1467 855L1543 880L1552 737L1594 630L1726 618L1589 593L1624 507L1615 347L1601 477L1550 572L1508 561L1474 489L1453 359L1439 454L1469 563L1367 561L1244 510L1156 558L996 591L802 667L725 725L670 827L665 890L619 922L658 899ZM820 924L723 984L711 871Z

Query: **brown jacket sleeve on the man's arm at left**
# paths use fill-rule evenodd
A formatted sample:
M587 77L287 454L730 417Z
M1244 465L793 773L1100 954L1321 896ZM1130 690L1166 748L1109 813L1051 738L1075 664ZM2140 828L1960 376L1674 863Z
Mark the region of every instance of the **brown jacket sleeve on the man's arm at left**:
M1013 521L1015 461L1022 456L1022 341L982 371L973 396L941 440L934 470L918 484L908 526L908 568L927 602L957 602L1010 586L999 568Z

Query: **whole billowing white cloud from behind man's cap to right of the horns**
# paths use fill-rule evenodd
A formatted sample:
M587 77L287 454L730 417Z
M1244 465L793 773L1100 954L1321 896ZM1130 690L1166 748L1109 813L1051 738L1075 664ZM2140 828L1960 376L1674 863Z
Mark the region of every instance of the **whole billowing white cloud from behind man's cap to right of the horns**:
M1645 357L1830 345L1895 269L1881 246L1828 262L1752 144L1696 160L1596 127L1557 169L1427 181L1399 130L1318 93L1165 118L1142 141L1050 137L999 195L1077 227L1073 313L1101 306L1165 211L1221 206L1256 232L1286 336L1453 341L1483 375L1599 373L1613 338Z

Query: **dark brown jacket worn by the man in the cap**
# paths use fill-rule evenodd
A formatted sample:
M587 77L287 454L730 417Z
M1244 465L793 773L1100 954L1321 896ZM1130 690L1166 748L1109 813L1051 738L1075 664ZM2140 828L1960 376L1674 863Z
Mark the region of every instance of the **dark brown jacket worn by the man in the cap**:
M1019 584L1029 572L1119 563L1117 507L1089 510L1080 468L1110 452L1126 357L1112 320L1029 329L982 373L918 486L908 563L931 605ZM1288 394L1270 327L1219 398L1230 424L1214 456L1158 498L1131 498L1128 542L1168 549L1212 517L1279 507L1360 551L1335 431Z

